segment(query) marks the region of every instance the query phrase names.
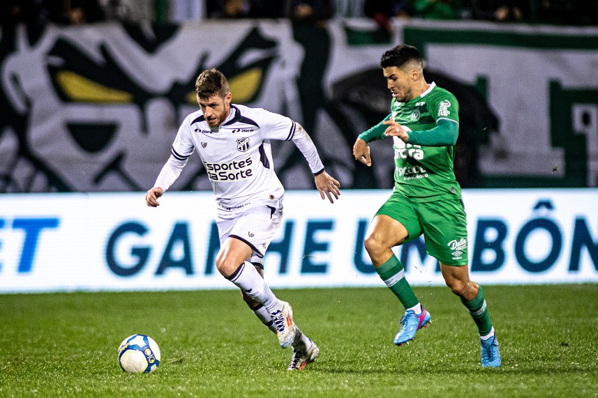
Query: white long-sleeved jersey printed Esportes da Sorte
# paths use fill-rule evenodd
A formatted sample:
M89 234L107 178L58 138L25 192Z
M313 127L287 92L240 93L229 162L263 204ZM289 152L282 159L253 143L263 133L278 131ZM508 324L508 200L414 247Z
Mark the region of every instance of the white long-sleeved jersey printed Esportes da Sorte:
M216 194L218 213L238 213L282 199L284 188L274 172L270 139L293 140L314 174L324 170L313 142L298 123L261 108L231 105L230 111L216 129L209 127L201 110L189 114L154 186L170 187L197 151Z

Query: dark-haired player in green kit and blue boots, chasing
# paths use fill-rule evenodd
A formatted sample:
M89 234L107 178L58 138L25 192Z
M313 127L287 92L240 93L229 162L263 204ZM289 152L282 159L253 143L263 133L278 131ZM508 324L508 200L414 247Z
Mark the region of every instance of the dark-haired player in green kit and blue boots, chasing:
M498 341L484 291L469 277L467 221L461 187L453 171L458 102L449 91L426 82L424 64L415 47L389 49L382 55L380 66L393 96L391 114L359 135L353 155L371 166L368 142L386 137L394 141L394 190L375 214L364 241L376 272L405 307L394 344L412 341L415 332L431 320L391 250L424 234L426 251L438 259L444 281L461 298L477 325L481 365L500 367Z

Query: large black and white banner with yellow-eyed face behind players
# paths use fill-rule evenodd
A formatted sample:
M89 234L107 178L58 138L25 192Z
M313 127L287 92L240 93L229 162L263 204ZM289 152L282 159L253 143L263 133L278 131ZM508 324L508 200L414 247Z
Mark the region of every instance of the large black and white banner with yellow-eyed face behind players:
M597 28L394 24L386 38L369 20L20 26L0 38L0 192L147 190L205 68L227 75L233 102L301 123L343 187L391 187L389 143L372 168L351 148L389 112L379 60L399 43L460 102L463 186L598 185ZM285 187L311 187L296 148L276 143L274 158ZM197 156L172 189L209 189Z

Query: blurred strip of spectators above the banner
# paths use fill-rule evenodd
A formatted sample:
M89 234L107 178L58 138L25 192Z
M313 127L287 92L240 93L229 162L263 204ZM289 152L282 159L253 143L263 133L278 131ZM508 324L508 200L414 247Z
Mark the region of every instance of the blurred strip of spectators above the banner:
M184 22L290 18L325 22L368 17L381 29L395 18L598 25L598 0L0 0L0 24Z

